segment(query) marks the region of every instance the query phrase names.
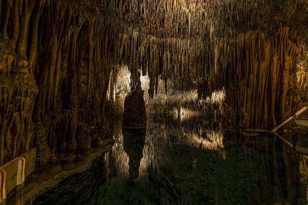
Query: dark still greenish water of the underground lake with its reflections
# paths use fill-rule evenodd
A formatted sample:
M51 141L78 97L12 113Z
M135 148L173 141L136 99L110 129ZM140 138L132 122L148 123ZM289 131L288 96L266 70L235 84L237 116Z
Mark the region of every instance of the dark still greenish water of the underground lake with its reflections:
M90 204L306 204L308 159L275 135L150 116L114 140Z

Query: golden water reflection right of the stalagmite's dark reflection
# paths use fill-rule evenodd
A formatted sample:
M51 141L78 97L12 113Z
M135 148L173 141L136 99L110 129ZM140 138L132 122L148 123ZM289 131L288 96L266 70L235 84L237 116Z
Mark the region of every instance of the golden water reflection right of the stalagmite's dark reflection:
M206 124L195 124L193 127L184 125L178 121L148 119L143 158L139 168L140 180L148 179L149 167L158 179L162 177L160 171L172 169L170 165L174 159L174 149L178 145L215 151L223 159L226 158L221 127L205 130Z

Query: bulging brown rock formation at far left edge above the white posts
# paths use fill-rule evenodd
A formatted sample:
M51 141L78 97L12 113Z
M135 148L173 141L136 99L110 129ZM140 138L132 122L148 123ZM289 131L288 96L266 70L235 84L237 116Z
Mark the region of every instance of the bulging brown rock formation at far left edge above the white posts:
M25 153L33 141L32 112L38 93L27 58L0 41L0 166Z

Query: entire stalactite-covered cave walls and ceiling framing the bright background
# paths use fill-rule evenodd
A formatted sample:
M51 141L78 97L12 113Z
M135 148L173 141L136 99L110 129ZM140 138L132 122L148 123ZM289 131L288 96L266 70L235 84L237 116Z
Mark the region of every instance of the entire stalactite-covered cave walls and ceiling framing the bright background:
M123 66L147 75L149 99L159 81L199 98L224 89L226 121L275 127L307 100L306 70L297 74L307 10L302 0L1 0L0 165L30 147L42 165L50 149L75 152L80 123L107 132Z

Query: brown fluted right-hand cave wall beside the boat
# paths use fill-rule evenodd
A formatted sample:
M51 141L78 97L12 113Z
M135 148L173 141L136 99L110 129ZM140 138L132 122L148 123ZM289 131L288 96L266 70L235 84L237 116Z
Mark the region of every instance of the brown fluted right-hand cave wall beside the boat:
M225 115L233 125L271 129L301 108L296 64L302 44L288 34L289 28L241 34L228 45L226 61L218 59L225 63L218 63L221 75L213 81L225 86Z

